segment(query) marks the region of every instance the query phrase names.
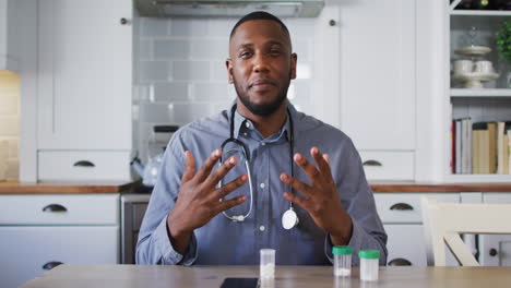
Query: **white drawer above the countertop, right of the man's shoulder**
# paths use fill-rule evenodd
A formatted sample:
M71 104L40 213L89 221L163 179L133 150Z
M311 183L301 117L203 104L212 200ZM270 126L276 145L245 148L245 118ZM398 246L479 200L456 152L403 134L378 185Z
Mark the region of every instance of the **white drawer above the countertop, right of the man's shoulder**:
M413 180L415 154L413 152L360 151L366 178L369 180Z

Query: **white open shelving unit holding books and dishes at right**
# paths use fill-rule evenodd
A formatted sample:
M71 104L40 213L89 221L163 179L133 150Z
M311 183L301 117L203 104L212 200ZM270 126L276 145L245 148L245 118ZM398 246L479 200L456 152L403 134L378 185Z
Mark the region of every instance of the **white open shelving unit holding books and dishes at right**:
M445 63L447 91L445 91L445 135L451 135L451 121L459 118L470 117L473 122L480 121L510 121L511 120L511 86L507 85L506 75L511 69L499 56L495 46L495 33L500 28L502 21L511 20L511 11L478 11L456 10L462 0L452 3L445 1L447 29L445 47L448 52ZM472 26L477 28L475 44L471 43L468 31ZM496 81L484 83L484 88L464 88L451 76L452 62L456 59L478 60L482 58L470 58L457 56L454 49L476 45L491 48L491 52L483 59L494 63L497 73L500 74ZM444 180L447 182L511 182L511 175L479 175L479 173L452 173L451 172L451 137L443 137L444 147Z

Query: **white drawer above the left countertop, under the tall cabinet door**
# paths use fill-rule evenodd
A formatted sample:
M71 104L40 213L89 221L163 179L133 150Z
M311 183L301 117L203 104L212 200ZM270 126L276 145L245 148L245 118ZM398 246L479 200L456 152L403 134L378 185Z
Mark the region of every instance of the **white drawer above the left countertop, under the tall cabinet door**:
M39 151L37 173L40 181L130 181L130 152Z

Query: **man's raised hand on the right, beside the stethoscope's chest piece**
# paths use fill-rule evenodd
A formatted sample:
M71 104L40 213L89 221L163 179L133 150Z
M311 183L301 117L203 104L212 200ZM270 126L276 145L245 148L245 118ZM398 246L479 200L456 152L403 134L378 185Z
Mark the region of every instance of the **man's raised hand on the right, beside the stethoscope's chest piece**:
M284 197L305 208L316 225L330 233L333 244L347 244L352 238L352 218L338 200L337 188L330 170L329 155L321 155L317 147L310 149L310 155L318 167L314 167L301 154L294 155L295 163L309 177L310 185L287 173L281 175L284 183L301 192L305 197L289 192L285 192Z

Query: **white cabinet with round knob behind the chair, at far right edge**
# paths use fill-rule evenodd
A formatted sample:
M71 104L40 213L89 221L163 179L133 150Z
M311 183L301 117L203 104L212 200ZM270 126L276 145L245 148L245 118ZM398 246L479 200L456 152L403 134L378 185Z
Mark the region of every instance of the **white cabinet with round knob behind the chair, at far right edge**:
M511 203L511 193L485 193L484 203ZM510 219L511 216L502 216ZM502 219L495 219L502 220ZM485 266L511 266L511 236L479 236L479 263Z

